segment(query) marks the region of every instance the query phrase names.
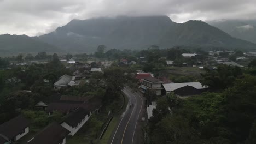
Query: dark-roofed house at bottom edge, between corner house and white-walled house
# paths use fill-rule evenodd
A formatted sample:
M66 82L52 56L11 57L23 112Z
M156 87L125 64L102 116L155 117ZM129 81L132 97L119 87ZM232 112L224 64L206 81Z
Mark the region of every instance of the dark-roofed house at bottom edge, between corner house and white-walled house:
M28 144L65 144L66 136L70 133L69 130L62 127L60 124L51 123L38 134L36 134Z

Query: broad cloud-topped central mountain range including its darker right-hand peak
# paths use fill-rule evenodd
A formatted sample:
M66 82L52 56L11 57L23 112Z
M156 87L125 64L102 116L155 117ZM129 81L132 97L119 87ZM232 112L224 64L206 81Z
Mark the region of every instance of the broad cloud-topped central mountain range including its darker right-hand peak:
M163 48L182 45L254 49L256 45L232 38L202 21L176 23L167 16L116 17L72 20L54 32L34 37L65 51L94 52L98 45L108 49Z

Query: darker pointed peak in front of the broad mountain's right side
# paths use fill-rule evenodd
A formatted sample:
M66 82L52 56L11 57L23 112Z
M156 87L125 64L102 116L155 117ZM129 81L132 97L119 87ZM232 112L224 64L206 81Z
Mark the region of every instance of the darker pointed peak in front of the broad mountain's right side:
M173 25L160 44L194 47L225 47L228 49L256 49L255 44L231 37L220 29L203 21L188 21Z

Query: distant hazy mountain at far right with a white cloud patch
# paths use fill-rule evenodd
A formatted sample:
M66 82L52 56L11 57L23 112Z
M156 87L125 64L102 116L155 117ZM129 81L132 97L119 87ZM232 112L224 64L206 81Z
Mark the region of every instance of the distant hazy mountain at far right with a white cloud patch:
M232 37L256 43L256 20L209 21L210 25L222 29Z

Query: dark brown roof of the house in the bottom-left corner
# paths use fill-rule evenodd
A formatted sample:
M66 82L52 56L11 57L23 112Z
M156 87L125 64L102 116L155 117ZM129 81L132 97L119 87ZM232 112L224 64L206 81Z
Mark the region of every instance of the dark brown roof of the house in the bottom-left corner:
M1 124L0 134L11 140L29 125L30 122L24 116L19 115L18 117L10 119L10 121Z

